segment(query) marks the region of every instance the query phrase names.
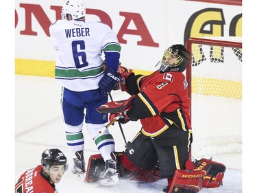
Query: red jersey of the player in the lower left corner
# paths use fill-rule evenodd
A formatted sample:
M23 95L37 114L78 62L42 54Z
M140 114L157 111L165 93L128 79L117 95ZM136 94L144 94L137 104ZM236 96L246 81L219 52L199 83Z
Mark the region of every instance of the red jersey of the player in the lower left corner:
M50 183L41 171L41 165L24 172L15 185L15 193L54 193L54 183Z

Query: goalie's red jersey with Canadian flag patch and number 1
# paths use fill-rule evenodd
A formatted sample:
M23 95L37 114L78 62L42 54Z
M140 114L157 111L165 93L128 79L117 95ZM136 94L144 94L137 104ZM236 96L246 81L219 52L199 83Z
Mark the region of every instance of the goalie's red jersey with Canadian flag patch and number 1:
M160 135L171 124L191 132L191 100L182 72L155 71L149 76L132 74L126 85L128 93L136 94L127 115L130 120L140 120L144 135Z

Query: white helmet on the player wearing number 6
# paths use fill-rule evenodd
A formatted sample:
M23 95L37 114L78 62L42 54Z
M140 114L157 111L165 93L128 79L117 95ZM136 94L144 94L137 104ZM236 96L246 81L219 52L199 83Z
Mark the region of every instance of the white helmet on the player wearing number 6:
M62 19L67 19L71 14L72 19L79 19L86 16L86 5L82 0L69 0L62 6Z

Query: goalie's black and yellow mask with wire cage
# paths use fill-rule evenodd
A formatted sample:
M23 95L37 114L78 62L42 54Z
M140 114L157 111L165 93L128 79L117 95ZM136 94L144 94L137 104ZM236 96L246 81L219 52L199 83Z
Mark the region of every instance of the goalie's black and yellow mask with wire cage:
M190 53L184 45L172 45L164 51L162 60L157 63L160 73L168 71L184 71L189 64Z

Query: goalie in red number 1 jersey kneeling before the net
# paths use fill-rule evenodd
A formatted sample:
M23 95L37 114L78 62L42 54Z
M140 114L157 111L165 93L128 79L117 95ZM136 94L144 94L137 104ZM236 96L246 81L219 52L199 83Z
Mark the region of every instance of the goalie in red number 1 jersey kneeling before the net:
M189 61L190 53L184 45L172 45L156 65L159 69L148 76L135 75L120 67L121 80L125 80L121 82L121 90L132 97L109 102L97 109L100 113L110 113L110 122L119 117L121 124L137 120L142 124L133 141L127 143L126 150L113 153L120 177L130 172L130 179L138 181L167 179L167 188L163 191L168 193L199 192L207 187L204 183L207 174L209 177L213 174L208 179L212 187L221 184L225 172L223 164L211 159L195 163L190 160L193 142L191 99L183 73ZM94 162L94 158L90 161ZM90 170L87 177L90 181Z

